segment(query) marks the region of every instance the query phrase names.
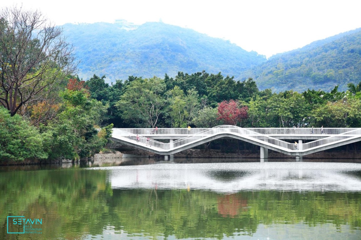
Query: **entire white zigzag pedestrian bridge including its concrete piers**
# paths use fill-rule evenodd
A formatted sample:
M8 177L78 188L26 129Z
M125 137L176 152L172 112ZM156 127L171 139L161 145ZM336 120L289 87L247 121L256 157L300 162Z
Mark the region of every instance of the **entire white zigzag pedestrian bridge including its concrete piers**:
M137 141L136 135L139 136ZM168 143L158 140L169 139ZM216 139L239 139L260 146L260 158L268 149L295 156L316 153L361 140L361 128L241 128L222 125L213 128L113 128L111 140L172 156ZM292 143L284 140L295 140ZM312 140L303 143L303 140Z

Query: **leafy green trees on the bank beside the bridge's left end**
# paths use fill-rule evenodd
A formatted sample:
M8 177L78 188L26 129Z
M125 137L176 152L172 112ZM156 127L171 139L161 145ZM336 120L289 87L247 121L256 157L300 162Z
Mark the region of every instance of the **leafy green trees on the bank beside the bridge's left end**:
M109 130L106 136L99 137L94 125L100 124L100 116L106 113L106 106L89 98L84 89L66 89L61 96L64 98L62 111L57 121L47 128L53 135L50 158L78 160L99 153L105 146Z

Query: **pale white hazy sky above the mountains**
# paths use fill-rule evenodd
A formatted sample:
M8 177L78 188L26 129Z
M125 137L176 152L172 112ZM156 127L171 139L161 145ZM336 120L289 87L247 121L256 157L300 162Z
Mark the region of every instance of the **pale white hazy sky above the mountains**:
M267 57L361 27L358 0L12 0L0 6L14 4L40 10L56 25L161 20Z

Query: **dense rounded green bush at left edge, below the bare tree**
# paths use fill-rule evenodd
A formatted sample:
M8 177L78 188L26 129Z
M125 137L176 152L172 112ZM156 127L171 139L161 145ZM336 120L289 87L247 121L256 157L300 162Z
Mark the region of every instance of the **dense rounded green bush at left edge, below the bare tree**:
M0 160L46 159L48 137L21 116L11 117L6 108L0 107Z

